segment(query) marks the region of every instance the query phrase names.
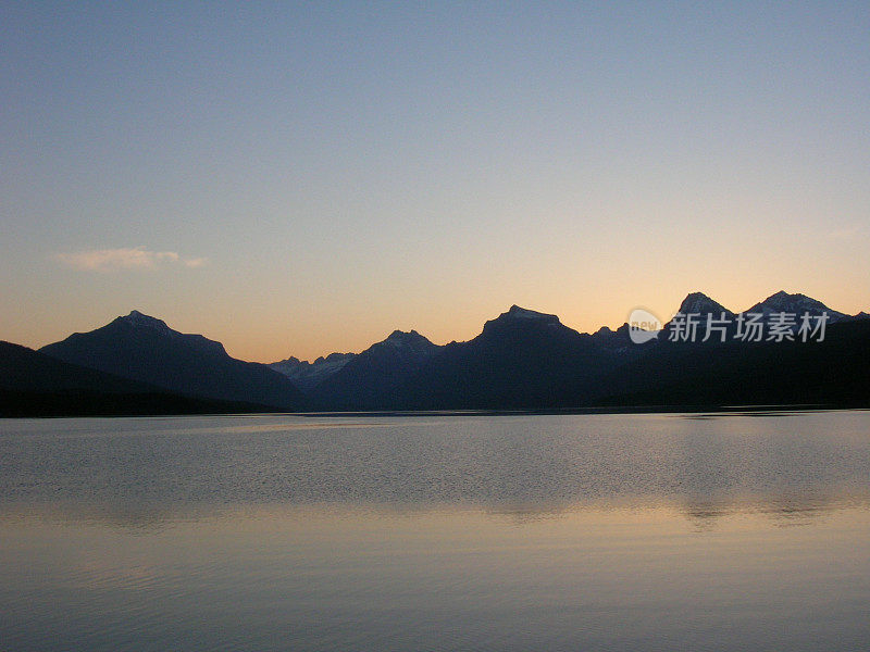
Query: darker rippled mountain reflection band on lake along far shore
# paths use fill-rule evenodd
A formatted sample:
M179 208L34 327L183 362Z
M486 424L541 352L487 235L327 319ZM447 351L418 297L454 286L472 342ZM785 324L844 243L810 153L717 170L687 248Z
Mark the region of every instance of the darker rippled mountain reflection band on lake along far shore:
M701 415L707 416L707 415ZM805 525L870 498L870 413L425 418L210 417L0 423L0 517L130 528L260 504L517 523L674 505Z

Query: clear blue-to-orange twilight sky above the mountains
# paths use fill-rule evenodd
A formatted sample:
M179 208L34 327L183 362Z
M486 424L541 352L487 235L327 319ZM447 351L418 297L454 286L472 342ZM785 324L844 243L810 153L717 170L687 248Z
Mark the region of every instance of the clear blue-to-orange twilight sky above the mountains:
M870 310L870 3L0 3L0 339Z

